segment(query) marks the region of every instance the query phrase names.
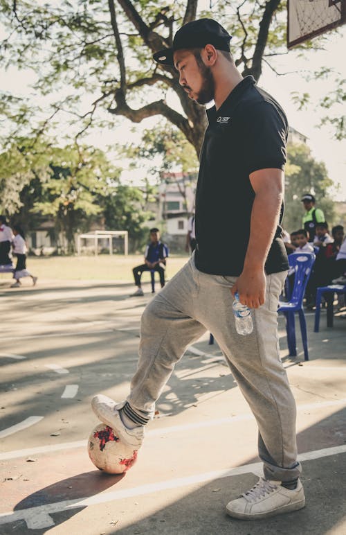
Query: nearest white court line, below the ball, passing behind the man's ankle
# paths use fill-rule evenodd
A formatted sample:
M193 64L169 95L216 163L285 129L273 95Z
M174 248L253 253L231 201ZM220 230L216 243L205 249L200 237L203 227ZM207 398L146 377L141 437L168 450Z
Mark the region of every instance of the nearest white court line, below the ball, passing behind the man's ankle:
M346 445L334 446L332 448L324 448L322 450L308 451L306 453L298 455L298 459L300 461L310 461L313 459L320 459L320 457L338 455L340 453L346 453ZM39 505L36 507L28 507L28 509L1 513L0 525L4 525L10 522L17 522L18 520L25 520L29 528L36 527L37 529L39 529L49 527L52 525L53 522L53 519L50 515L54 513L71 511L71 509L79 509L82 507L88 507L90 505L98 505L100 503L113 502L114 500L134 498L134 496L151 494L158 491L179 489L183 486L205 483L208 481L218 480L224 477L232 477L233 475L241 475L246 473L258 474L261 468L262 462L243 464L242 466L235 466L234 468L226 468L224 470L215 470L212 472L190 475L188 477L179 477L173 480L166 480L156 483L135 486L132 489L99 493L94 496L89 496L81 499L63 500L61 502Z

